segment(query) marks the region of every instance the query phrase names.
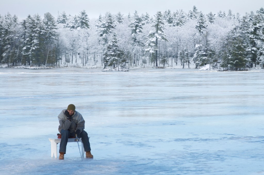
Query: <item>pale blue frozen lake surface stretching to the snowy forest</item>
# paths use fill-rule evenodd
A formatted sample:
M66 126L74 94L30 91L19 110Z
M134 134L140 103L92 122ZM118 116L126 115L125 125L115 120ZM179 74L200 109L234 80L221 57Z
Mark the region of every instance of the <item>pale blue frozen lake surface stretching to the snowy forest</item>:
M264 70L0 68L0 174L264 174ZM50 157L68 104L86 121Z

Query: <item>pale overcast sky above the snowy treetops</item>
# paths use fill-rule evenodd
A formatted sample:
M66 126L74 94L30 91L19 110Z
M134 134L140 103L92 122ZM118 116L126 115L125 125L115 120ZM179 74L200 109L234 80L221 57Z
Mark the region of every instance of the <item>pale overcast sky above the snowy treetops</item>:
M121 12L126 16L129 12L133 14L135 10L139 14L148 12L151 16L167 9L171 12L183 9L187 13L193 6L205 14L217 14L220 10L227 13L231 9L233 13L240 13L242 16L245 12L256 12L261 7L264 8L264 0L1 0L0 14L4 16L10 12L21 20L28 14L38 13L43 17L44 13L50 12L57 17L58 12L65 11L74 16L85 10L92 19L106 12Z

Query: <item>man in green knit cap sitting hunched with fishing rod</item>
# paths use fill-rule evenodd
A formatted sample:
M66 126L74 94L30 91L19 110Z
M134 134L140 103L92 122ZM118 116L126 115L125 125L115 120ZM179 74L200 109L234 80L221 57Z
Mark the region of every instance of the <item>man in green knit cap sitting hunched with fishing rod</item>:
M66 146L69 137L75 137L82 139L84 151L87 158L93 158L91 154L90 142L87 132L84 131L84 119L80 113L75 110L73 104L69 104L67 109L63 109L58 115L59 119L59 132L62 135L59 149L59 159L64 159L66 153Z

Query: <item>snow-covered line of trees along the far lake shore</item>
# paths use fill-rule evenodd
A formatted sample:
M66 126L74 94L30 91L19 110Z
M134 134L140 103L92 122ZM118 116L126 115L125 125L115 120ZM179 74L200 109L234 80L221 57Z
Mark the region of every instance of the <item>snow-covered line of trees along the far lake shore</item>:
M263 60L263 8L242 17L232 10L204 14L195 6L154 16L106 12L93 20L85 10L21 21L0 14L0 65L185 68L193 62L241 70L263 68Z

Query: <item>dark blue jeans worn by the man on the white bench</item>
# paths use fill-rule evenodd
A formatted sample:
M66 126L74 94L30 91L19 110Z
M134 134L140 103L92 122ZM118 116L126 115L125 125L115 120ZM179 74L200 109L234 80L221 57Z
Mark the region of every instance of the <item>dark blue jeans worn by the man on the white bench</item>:
M75 136L74 132L70 132L68 130L64 130L62 129L60 131L60 134L62 134L62 139L60 140L60 153L66 153L66 146L68 143L68 138L70 136ZM90 147L90 142L89 142L89 137L87 132L82 131L79 135L77 135L78 138L81 138L82 143L83 143L83 147L84 147L84 151L91 151L91 147Z

